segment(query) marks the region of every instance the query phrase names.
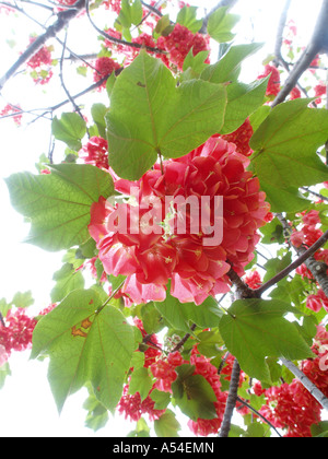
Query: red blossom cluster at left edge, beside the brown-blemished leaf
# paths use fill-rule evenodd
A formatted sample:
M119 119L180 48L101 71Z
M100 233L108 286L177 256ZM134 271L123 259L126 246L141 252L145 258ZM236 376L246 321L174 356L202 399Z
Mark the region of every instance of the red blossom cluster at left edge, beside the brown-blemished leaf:
M55 306L43 309L39 316L48 314ZM12 351L25 351L31 346L36 323L36 318L27 316L23 308L8 311L0 322L0 366L8 361Z

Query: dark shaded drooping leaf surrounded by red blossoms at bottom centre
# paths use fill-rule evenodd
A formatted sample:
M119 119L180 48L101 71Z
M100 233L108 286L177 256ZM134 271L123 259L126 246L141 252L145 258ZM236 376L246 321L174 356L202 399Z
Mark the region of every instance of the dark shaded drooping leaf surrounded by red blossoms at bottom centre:
M192 421L212 420L216 417L216 396L202 375L192 375L194 370L195 367L187 364L176 368L178 377L172 385L173 397L181 412Z

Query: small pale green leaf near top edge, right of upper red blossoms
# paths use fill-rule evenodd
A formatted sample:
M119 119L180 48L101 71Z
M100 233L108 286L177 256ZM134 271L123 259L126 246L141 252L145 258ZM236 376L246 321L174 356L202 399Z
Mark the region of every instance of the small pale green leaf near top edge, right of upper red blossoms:
M231 42L234 38L233 27L241 16L227 13L229 7L221 7L214 11L208 22L208 34L218 43Z

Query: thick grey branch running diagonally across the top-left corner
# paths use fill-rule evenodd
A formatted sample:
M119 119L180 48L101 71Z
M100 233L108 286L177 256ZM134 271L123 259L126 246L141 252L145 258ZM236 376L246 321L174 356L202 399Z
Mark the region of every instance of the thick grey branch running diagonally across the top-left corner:
M50 25L47 31L39 35L28 48L20 56L14 64L4 73L0 79L0 91L10 78L19 70L19 68L25 63L32 56L34 56L49 38L56 37L60 32L78 13L84 8L85 0L78 0L70 10L61 11L58 13L57 21Z

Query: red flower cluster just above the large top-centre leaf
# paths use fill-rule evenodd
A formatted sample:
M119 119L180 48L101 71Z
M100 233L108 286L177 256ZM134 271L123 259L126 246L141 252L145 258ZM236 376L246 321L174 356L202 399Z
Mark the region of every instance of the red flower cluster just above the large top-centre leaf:
M169 54L169 62L177 66L179 70L183 69L184 61L190 49L192 49L194 56L197 56L200 51L210 50L208 37L198 33L192 34L192 32L180 24L176 24L173 32L166 37L161 36L157 39L157 47ZM165 60L164 62L167 64ZM206 62L210 63L209 58Z

